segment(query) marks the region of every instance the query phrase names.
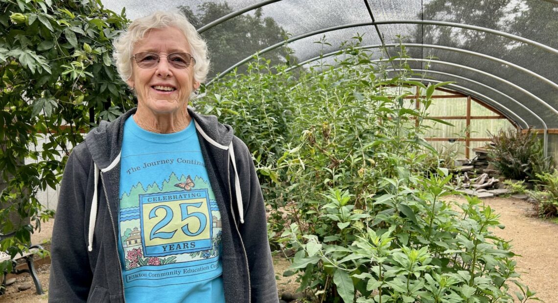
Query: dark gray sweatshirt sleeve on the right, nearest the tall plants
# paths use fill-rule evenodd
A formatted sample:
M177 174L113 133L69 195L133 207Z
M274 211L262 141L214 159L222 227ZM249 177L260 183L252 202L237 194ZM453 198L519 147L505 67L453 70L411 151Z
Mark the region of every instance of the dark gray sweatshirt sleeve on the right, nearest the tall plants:
M237 139L237 138L235 138ZM267 239L266 207L252 155L239 139L239 177L244 204L244 223L239 224L246 248L252 302L278 302L275 271Z

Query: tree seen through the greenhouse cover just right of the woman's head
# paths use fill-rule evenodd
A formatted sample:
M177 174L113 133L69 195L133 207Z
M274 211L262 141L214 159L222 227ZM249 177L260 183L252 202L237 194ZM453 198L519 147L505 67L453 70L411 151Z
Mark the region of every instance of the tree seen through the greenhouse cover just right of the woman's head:
M194 13L189 6L180 6L179 9L195 28L201 28L233 12L227 2L205 2L198 6L198 13ZM273 18L262 18L262 8L257 8L253 16L245 13L201 33L208 43L210 75L223 72L255 52L285 40L286 35ZM287 52L286 47L281 47L265 56L272 65L276 65L285 61Z

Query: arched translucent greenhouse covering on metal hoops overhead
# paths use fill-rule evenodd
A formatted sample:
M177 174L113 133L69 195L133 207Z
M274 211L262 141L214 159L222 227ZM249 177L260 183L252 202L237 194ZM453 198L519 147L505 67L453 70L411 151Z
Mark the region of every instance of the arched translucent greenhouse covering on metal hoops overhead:
M496 108L521 128L558 128L558 0L103 3L115 12L125 7L130 19L158 10L184 12L208 41L210 77L256 52L284 61L285 42L303 66L320 53L334 62L341 42L358 34L376 58L397 55L402 41L411 67L426 73L424 82L455 81L450 89Z

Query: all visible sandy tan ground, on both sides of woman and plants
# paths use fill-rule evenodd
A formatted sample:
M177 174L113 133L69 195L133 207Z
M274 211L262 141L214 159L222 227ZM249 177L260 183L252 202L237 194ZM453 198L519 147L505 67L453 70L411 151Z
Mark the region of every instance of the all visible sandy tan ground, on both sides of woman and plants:
M458 202L465 202L464 198L451 197ZM506 240L511 240L512 251L521 255L516 257L517 270L522 272L521 280L530 290L537 292L537 297L547 303L556 302L558 298L558 224L536 218L532 204L514 198L489 198L483 200L501 215L500 222L506 226L496 229L494 233ZM43 232L51 231L52 222L44 223ZM41 233L43 233L41 232ZM41 240L43 241L43 240ZM40 242L40 241L35 241ZM278 253L273 256L277 287L283 292L295 293L296 276L283 277L282 273L290 266L290 262ZM23 273L17 276L15 284L6 288L6 294L0 296L0 303L46 303L48 297L48 281L50 265L45 264L37 268L39 280L45 295L37 295L31 277ZM23 284L31 284L30 289L19 291ZM514 285L513 290L517 290ZM519 302L519 301L516 301Z

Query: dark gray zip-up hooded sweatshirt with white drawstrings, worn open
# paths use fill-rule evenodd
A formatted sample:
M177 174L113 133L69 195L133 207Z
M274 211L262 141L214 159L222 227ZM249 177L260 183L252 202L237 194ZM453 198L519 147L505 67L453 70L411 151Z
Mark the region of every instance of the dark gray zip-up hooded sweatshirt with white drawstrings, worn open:
M117 248L119 160L124 121L135 111L103 121L68 158L52 232L49 302L125 301ZM188 112L222 216L225 301L278 302L251 154L229 125Z

